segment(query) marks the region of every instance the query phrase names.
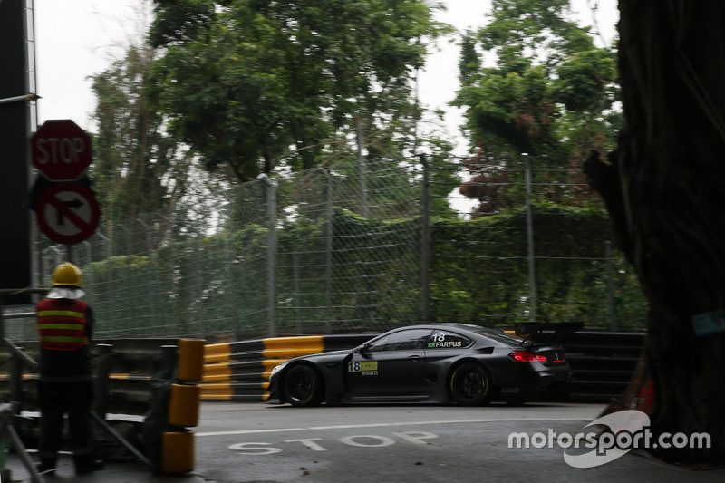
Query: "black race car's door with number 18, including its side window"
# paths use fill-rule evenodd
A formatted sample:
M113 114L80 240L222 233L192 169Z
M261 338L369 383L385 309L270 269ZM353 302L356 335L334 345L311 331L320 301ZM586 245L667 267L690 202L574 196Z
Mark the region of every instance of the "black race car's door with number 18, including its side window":
M382 335L353 353L347 364L351 397L405 397L420 394L425 345L430 329L403 329Z

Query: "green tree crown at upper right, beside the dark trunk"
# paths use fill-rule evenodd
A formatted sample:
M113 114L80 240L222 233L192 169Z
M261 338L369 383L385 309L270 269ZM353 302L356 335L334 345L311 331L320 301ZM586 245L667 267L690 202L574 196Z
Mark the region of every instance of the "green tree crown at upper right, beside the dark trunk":
M507 187L520 179L505 169L507 156L578 165L590 150L613 147L621 125L614 53L594 45L589 27L568 20L568 0L494 0L489 16L463 36L454 101L466 109L465 128L477 147L461 192L481 201L480 213L515 203ZM493 63L484 62L487 55ZM592 197L586 188L546 195L570 204Z

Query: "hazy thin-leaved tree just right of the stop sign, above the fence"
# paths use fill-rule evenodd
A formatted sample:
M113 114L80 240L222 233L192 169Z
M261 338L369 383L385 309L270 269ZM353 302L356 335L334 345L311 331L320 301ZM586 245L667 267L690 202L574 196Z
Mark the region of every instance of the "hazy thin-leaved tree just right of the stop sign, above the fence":
M148 45L131 44L123 57L92 78L98 133L90 174L106 235L112 240L114 227L128 224L122 244L145 243L143 218L150 216L178 219L175 226L163 223L174 235L206 233L222 202L217 188L225 184L227 173L201 171L193 153L169 133L163 116L150 105L156 54ZM172 217L176 210L184 214ZM163 236L157 238L161 243Z

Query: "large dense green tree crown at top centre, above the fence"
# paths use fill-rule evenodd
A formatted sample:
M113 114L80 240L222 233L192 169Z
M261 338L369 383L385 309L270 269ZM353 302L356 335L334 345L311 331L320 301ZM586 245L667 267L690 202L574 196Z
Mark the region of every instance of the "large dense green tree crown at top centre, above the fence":
M356 117L410 131L411 72L442 28L420 0L155 4L155 105L208 169L228 163L242 180L283 158L315 167Z

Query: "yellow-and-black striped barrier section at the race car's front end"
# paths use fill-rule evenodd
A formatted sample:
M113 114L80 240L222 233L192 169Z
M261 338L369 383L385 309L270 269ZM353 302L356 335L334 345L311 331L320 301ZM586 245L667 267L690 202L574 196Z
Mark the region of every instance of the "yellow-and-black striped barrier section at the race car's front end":
M269 374L277 364L300 355L352 349L375 335L302 335L208 344L201 399L266 401Z

